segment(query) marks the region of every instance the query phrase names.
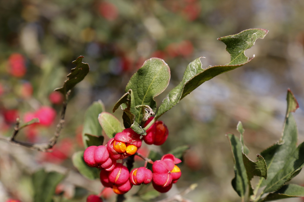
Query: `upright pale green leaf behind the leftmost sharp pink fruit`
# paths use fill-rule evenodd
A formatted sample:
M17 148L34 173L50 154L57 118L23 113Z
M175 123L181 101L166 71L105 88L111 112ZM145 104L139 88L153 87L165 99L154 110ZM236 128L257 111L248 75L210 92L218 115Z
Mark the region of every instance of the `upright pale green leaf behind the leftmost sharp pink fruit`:
M105 111L105 106L101 100L93 102L85 112L85 120L82 129L82 141L85 148L89 147L87 141L88 136L85 134L100 137L102 135L102 128L98 122L98 115Z

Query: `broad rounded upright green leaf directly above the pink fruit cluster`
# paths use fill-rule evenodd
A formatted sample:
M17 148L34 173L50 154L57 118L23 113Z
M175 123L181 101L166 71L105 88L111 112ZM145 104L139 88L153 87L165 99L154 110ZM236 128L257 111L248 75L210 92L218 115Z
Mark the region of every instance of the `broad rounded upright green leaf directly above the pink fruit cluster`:
M133 90L135 105L149 105L156 111L154 97L161 94L170 81L170 68L160 58L150 58L131 77L126 86L126 91ZM137 110L136 122L140 123L141 111Z

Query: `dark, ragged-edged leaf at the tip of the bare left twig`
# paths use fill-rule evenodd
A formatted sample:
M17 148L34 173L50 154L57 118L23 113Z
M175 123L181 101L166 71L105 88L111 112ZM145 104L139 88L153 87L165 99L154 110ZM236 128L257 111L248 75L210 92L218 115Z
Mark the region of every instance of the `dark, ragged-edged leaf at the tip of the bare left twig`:
M83 56L79 56L72 64L76 65L75 68L71 69L71 73L67 75L67 80L64 81L64 84L60 88L56 88L55 91L61 92L64 96L67 94L67 91L74 88L76 84L82 81L85 76L89 73L89 65L83 63Z

